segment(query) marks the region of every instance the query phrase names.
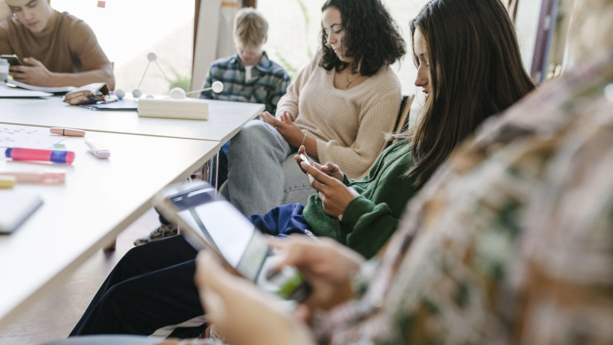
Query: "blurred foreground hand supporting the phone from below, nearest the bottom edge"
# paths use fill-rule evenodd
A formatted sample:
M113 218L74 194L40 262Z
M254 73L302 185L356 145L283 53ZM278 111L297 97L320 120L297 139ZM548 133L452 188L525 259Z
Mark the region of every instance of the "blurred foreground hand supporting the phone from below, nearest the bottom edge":
M256 285L224 269L202 252L196 259L196 285L211 322L231 344L314 344L310 331Z

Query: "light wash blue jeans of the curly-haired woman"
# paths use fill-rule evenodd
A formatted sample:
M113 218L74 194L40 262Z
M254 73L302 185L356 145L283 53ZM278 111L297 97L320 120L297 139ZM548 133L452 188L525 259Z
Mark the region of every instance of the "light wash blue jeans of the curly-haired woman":
M230 141L227 193L244 215L284 204L307 204L316 193L294 160L297 151L271 125L253 120Z

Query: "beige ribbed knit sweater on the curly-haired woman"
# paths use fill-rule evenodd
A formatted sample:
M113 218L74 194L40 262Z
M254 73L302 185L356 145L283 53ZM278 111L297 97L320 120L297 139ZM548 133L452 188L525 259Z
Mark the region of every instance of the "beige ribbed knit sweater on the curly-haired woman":
M402 95L400 81L383 66L348 90L334 87L334 71L319 66L318 53L287 88L276 117L287 111L301 130L317 141L319 161L340 166L349 178L365 176L393 130Z

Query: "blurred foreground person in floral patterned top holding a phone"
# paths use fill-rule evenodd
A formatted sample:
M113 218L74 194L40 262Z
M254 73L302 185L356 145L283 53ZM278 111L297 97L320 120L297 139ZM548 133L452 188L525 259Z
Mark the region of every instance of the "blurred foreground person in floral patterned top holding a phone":
M453 11L447 18L463 20L470 7L495 2L435 0L422 15L435 23ZM573 47L581 53L573 58L581 66L462 145L376 260L362 262L333 241L277 241L284 263L318 287L292 315L199 257L202 303L224 338L249 345L613 344L613 2L577 4L581 34ZM312 316L310 328L296 315Z

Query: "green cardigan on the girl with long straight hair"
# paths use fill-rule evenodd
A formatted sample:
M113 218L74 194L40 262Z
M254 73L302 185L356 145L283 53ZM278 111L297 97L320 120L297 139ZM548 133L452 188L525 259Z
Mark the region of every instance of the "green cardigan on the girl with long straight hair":
M379 155L363 179L345 176L345 185L360 196L348 204L342 222L324 212L317 194L311 195L303 215L313 233L333 238L366 258L375 255L394 233L406 203L419 189L415 179L406 176L412 165L409 145L398 141Z

